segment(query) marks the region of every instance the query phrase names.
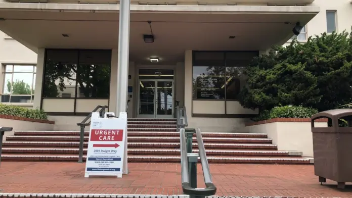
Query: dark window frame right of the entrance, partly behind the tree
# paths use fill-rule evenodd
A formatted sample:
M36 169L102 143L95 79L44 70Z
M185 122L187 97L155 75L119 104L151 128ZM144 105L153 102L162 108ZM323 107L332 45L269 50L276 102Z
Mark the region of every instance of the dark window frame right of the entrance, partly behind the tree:
M237 99L228 99L227 98L227 79L226 79L226 76L227 76L227 70L226 68L227 67L231 67L231 66L227 66L227 57L226 55L228 53L255 53L256 55L255 56L258 56L259 55L259 51L192 51L192 89L193 89L193 73L194 73L194 67L203 67L201 65L196 65L194 64L195 62L195 55L197 53L223 53L224 54L224 60L223 60L223 63L224 65L223 66L214 66L214 67L224 67L224 76L225 76L225 81L224 81L224 90L225 90L225 95L224 95L224 99L205 99L205 98L194 98L194 94L193 94L193 91L192 91L192 101L224 101L225 103L227 101L238 101Z

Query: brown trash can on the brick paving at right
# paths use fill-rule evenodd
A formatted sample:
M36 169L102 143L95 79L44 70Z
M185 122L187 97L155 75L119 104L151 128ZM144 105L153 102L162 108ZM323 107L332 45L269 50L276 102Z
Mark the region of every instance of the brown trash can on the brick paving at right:
M332 127L314 127L314 120L330 118ZM339 127L338 119L348 121ZM352 182L352 109L334 109L312 116L314 171L319 182L337 181L338 188Z

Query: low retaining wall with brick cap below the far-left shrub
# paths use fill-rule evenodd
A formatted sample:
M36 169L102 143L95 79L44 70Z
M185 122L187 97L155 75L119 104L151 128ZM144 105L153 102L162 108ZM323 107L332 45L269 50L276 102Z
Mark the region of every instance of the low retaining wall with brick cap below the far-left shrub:
M0 126L13 127L12 131L5 132L6 136L14 135L15 131L40 131L40 130L53 130L55 122L49 120L39 120L32 118L23 118L18 116L0 115Z

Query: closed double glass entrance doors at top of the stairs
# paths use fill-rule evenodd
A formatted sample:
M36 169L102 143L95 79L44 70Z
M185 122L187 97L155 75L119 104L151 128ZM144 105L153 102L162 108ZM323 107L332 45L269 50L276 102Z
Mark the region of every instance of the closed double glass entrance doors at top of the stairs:
M140 118L173 118L173 80L140 80Z

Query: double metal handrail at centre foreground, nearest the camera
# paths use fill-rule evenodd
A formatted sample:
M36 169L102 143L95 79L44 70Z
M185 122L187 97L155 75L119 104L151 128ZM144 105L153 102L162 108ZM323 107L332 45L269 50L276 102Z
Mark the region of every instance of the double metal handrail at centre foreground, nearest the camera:
M205 154L205 148L204 148L204 143L202 139L202 134L200 132L200 129L187 129L191 131L195 131L196 136L197 136L197 142L198 142L198 150L199 150L199 156L197 155L192 155L190 152L187 152L187 147L188 145L186 144L186 129L181 128L180 129L180 149L181 149L181 177L182 177L182 189L184 194L189 194L190 197L195 197L195 196L211 196L216 193L216 187L212 183L211 175L210 175L210 170L209 170L209 164L208 160L206 158ZM193 134L193 132L191 132ZM193 135L192 135L193 136ZM192 138L192 136L188 136ZM190 141L192 144L192 141ZM192 152L192 151L191 151ZM205 183L205 188L197 188L197 182L190 180L190 175L191 179L192 176L196 180L197 176L197 170L196 170L196 163L198 161L198 157L200 158L201 164L202 164L202 170L203 170L203 177L204 177L204 183ZM196 158L196 160L192 160L192 162L189 160L190 158ZM189 167L189 164L193 167ZM189 169L191 168L191 169ZM193 172L192 172L193 171Z

